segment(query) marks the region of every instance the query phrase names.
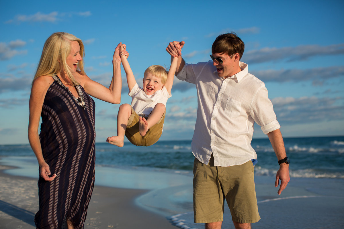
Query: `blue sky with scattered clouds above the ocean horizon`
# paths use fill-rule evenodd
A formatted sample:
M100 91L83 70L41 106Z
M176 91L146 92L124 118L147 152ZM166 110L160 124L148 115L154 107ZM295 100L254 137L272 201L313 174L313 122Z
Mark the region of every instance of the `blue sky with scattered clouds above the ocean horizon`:
M241 61L265 82L284 137L344 135L344 1L0 1L0 144L28 143L30 86L45 40L72 33L87 75L108 87L112 54L127 44L138 82L169 67L165 48L185 41L189 63L208 61L219 34L245 43ZM139 85L140 85L139 83ZM117 135L119 105L96 101L96 140ZM130 103L122 69L121 103ZM175 79L161 140L191 139L193 84ZM254 137L266 137L259 126Z

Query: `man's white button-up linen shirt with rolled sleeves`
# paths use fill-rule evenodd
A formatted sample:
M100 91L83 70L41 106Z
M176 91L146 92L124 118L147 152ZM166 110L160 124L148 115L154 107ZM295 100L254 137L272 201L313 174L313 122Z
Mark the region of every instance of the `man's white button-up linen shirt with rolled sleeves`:
M232 166L257 159L251 147L254 123L264 134L279 129L265 84L248 73L248 65L228 78L217 75L213 61L185 63L177 78L196 84L197 119L191 149L194 156L208 164Z

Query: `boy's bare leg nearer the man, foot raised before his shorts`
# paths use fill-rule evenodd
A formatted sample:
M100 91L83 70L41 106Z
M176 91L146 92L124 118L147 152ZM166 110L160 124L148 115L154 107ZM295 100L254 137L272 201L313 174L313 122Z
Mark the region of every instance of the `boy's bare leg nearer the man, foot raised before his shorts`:
M159 122L165 110L166 110L166 107L164 104L157 103L157 105L155 105L153 111L150 113L149 117L147 118L147 120L145 118L139 118L139 130L140 130L141 136L146 135L149 128L151 128L152 126L154 126L155 124Z

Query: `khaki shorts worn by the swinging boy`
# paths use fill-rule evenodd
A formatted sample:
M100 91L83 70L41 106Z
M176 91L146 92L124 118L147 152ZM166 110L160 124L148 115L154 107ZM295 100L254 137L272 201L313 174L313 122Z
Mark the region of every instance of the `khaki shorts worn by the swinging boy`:
M133 145L136 145L136 146L153 145L155 142L159 140L162 134L162 127L165 121L165 114L166 114L166 111L162 115L159 122L155 124L154 126L152 126L151 128L149 128L146 135L142 137L139 131L139 117L140 116L136 114L134 109L131 107L131 115L129 117L127 129L125 133L126 137ZM147 119L148 117L145 117L145 118Z

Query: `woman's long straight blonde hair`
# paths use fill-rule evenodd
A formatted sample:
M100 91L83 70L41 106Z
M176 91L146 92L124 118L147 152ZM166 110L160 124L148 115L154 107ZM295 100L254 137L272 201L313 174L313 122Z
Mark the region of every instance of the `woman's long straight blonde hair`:
M73 41L77 41L79 43L79 54L84 59L85 49L83 42L79 38L69 33L53 33L45 41L34 79L39 76L52 76L54 74L59 74L64 70L69 79L71 79L73 86L79 85L66 63L66 58L71 52L71 42ZM77 70L80 74L85 75L83 60L79 61Z

